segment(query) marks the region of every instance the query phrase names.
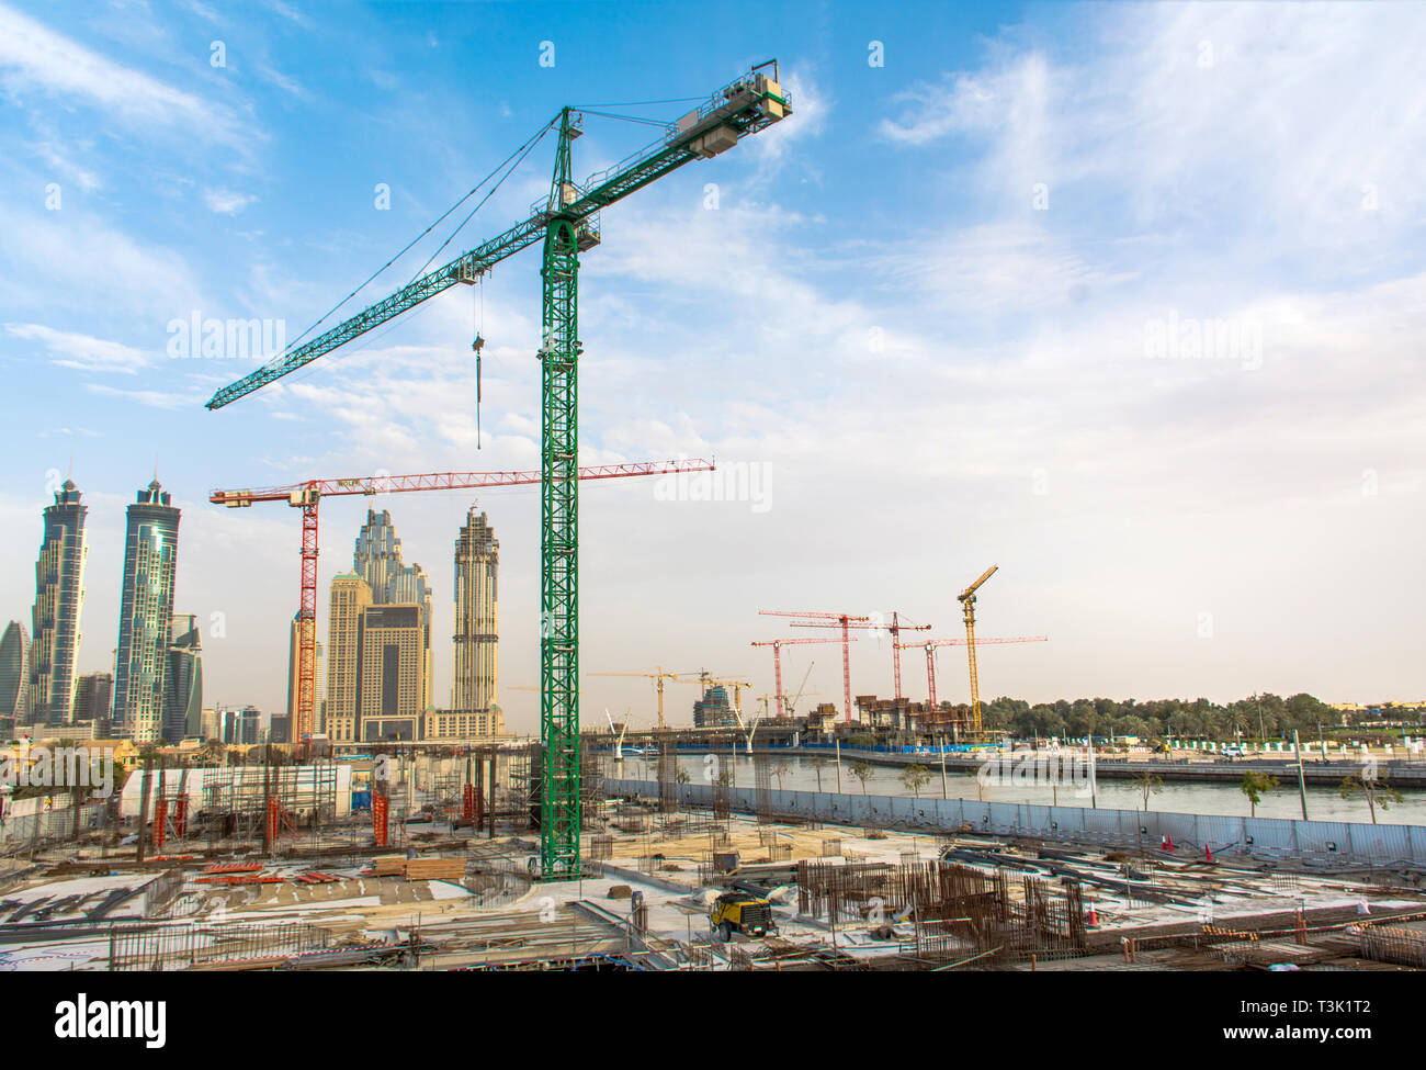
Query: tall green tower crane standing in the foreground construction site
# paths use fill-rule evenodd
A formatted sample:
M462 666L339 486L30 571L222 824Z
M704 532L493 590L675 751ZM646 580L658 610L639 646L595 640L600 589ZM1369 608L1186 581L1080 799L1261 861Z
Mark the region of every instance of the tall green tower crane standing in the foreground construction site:
M753 67L699 107L669 123L662 136L622 163L573 181L570 146L583 113L563 108L546 127L559 128L549 197L530 217L311 341L294 345L257 371L215 392L218 409L337 350L458 282L475 284L491 267L543 238L540 317L540 872L578 873L579 860L579 472L578 461L578 280L579 254L599 244L599 213L693 160L727 151L747 134L791 114L777 61Z

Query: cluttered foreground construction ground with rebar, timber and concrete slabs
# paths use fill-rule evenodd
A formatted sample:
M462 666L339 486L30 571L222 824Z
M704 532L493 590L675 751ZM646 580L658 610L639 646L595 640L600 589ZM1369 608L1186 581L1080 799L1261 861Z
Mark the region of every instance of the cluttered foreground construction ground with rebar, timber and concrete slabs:
M773 789L766 753L752 786L690 785L667 745L635 783L586 742L580 867L556 879L538 745L135 770L104 805L11 822L0 970L1426 967L1422 870L1400 860L910 806L853 825L834 810L857 796Z

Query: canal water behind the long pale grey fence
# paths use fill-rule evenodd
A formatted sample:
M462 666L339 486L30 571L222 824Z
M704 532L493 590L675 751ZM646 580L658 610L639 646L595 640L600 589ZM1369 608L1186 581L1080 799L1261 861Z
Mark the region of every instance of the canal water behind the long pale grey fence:
M716 776L727 768L732 756L724 750L714 755L719 765L713 768ZM610 776L623 776L635 780L657 779L657 759L653 755L626 755L622 762L613 762L609 755L602 755L605 770ZM831 755L770 755L770 768L780 763L787 765L787 772L781 779L771 778L773 788L803 792L837 792L857 795L861 792L861 782L851 775L854 759L841 758L841 786L837 786L837 762ZM925 768L931 772L931 779L921 788L921 796L928 799L941 798L941 769L934 755L927 755ZM693 783L706 783L707 756L683 753L679 755L679 766L689 775ZM747 753L739 755L733 763L734 783L743 788L754 785L753 759ZM901 769L897 766L874 765L871 776L866 785L867 795L913 795L901 783ZM1383 825L1426 825L1426 792L1403 792L1405 799L1392 803L1389 810L1383 810L1380 802L1376 806L1376 820ZM1089 806L1091 798L1082 783L1065 780L1058 786L1038 783L1008 783L983 785L967 772L947 769L945 796L948 799L980 799L983 802L1012 802L1034 803L1037 806ZM1094 805L1107 810L1142 810L1144 793L1132 780L1098 778ZM1248 798L1238 790L1236 785L1226 783L1184 783L1165 780L1158 792L1149 795L1148 809L1171 813L1218 813L1233 817L1246 817L1249 813ZM1301 817L1302 803L1298 798L1298 782L1291 778L1279 778L1276 790L1268 792L1258 803L1259 817ZM1312 820L1343 820L1370 822L1372 815L1366 800L1358 795L1343 799L1336 788L1325 785L1308 785L1308 817Z

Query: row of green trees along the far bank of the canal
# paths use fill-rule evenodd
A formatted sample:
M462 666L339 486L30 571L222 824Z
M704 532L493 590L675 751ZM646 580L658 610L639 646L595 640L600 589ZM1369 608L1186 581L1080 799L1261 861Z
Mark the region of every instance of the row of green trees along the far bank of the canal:
M1139 739L1289 739L1298 729L1316 736L1339 728L1340 715L1320 699L1263 693L1229 702L1208 699L1060 699L1037 702L1001 696L981 705L987 728L1017 736L1138 736Z

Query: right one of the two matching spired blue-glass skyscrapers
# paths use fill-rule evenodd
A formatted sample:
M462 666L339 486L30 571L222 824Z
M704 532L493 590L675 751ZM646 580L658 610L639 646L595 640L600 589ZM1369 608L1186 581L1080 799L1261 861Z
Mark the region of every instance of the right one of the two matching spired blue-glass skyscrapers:
M114 729L135 743L164 736L178 509L154 479L128 506L114 666Z

